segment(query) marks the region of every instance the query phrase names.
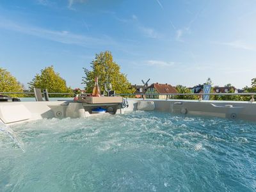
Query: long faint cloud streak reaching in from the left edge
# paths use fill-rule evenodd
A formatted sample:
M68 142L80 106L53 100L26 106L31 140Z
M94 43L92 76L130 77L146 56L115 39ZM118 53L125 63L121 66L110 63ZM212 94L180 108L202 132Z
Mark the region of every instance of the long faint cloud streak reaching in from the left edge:
M38 28L20 22L13 22L12 20L3 20L0 18L0 28L10 31L24 33L26 35L33 35L39 38L60 42L63 44L81 45L83 47L91 47L93 45L108 45L115 44L111 38L104 36L102 38L95 38L92 36L79 35L70 31L54 31L51 29Z

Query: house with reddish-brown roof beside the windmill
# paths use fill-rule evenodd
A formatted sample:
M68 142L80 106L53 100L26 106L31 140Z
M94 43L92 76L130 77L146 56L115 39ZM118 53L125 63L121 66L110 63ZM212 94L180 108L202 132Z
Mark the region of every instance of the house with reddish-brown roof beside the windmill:
M160 84L160 83L153 83L150 86L148 86L146 94L149 94L146 96L147 99L168 99L170 96L168 95L150 95L150 94L172 94L177 93L177 90L170 84Z

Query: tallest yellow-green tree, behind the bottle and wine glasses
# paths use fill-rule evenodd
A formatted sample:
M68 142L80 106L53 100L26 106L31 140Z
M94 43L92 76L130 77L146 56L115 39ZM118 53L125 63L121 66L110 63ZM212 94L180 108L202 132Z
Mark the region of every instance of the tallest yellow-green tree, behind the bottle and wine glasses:
M95 59L91 62L91 70L84 69L85 76L82 84L85 84L86 93L92 93L95 77L99 78L100 90L104 90L106 82L112 84L112 90L116 93L134 93L131 88L127 76L120 72L120 66L113 61L110 51L100 52L95 55Z

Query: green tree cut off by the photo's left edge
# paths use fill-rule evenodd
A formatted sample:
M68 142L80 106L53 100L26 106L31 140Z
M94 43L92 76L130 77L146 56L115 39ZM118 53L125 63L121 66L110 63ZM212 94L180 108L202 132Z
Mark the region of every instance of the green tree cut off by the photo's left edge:
M6 69L0 67L0 92L23 92L22 85ZM22 97L23 95L10 94L10 97Z

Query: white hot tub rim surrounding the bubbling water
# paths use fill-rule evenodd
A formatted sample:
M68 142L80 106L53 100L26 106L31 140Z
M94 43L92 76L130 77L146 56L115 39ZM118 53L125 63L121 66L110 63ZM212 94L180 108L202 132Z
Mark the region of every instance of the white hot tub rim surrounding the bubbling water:
M128 99L129 106L117 109L116 113L136 111L139 102L148 101L154 102L155 111L256 121L256 102L244 101ZM79 102L0 102L0 122L5 125L42 118L86 118L87 116L90 114L84 111L83 104Z

